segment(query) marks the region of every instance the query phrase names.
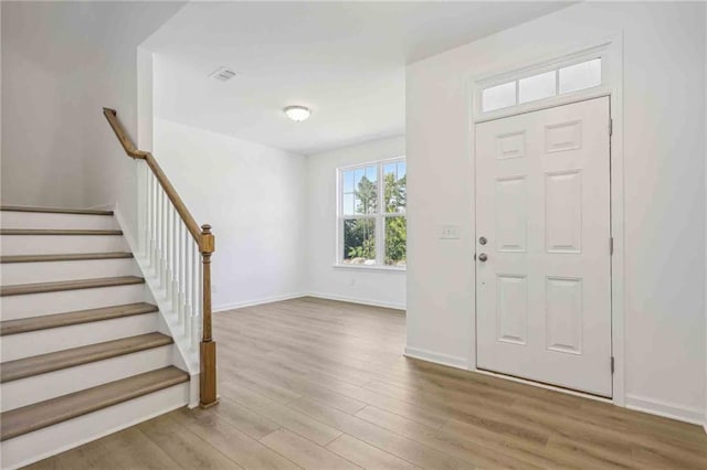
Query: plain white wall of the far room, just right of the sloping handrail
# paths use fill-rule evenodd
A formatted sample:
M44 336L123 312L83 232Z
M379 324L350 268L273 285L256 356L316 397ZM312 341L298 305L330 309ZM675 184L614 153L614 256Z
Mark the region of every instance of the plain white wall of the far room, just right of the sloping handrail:
M154 137L177 192L213 226L213 310L303 295L305 157L159 118Z

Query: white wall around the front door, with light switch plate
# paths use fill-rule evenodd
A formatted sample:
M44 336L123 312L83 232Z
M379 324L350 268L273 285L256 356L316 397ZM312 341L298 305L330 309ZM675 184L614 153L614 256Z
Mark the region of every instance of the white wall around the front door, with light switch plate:
M409 351L468 366L474 346L469 77L623 32L626 404L704 418L704 9L581 3L408 67Z

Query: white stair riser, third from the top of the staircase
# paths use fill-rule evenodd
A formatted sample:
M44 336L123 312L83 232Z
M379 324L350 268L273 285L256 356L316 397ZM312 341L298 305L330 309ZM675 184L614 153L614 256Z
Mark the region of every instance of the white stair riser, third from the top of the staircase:
M0 271L3 286L140 275L133 258L6 263L0 265Z

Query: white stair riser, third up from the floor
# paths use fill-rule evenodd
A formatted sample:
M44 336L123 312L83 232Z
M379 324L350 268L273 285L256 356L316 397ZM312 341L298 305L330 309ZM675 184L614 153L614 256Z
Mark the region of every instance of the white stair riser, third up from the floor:
M156 312L146 313L2 337L2 361L151 333L158 328L157 316Z

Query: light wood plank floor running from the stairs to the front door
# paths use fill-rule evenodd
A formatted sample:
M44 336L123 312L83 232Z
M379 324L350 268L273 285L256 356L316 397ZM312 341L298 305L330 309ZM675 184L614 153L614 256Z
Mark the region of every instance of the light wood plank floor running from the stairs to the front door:
M404 323L309 298L218 313L217 407L32 468L707 468L698 426L405 359Z

